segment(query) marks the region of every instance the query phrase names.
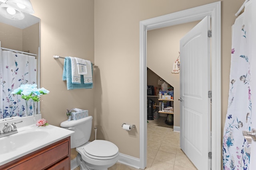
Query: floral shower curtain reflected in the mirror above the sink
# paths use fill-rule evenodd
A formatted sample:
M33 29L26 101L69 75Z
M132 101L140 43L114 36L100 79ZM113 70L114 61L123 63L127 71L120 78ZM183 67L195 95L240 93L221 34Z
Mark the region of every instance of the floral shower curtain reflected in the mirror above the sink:
M11 92L21 84L36 83L36 59L12 51L1 51L0 55L0 119L25 115L25 100ZM32 114L32 102L28 103Z

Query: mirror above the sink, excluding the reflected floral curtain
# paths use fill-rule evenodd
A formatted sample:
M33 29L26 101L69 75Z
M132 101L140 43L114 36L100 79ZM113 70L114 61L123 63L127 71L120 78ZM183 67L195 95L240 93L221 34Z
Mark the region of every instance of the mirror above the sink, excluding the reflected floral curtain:
M25 18L23 20L10 20L0 16L0 46L1 48L23 51L36 55L36 79L39 88L40 18L26 13L24 13L24 15ZM2 99L2 96L0 96L0 98ZM40 113L40 107L37 108L37 113Z

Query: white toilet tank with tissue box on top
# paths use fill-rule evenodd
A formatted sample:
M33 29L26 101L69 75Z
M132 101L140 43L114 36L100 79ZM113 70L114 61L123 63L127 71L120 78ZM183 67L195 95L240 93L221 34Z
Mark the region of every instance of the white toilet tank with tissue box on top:
M60 127L74 131L72 133L71 148L79 147L87 143L91 136L92 131L92 116L84 117L78 120L63 121Z

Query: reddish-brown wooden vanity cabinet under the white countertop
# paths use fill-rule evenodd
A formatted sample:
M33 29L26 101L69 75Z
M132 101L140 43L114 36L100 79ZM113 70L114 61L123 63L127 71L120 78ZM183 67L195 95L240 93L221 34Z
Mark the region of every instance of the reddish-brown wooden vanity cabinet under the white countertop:
M70 137L8 162L0 170L70 170Z

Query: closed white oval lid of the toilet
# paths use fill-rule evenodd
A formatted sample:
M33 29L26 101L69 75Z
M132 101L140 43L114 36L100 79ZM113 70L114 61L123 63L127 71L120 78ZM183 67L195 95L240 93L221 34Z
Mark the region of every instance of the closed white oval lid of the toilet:
M84 152L93 157L111 157L118 153L118 147L110 141L94 140L84 146Z

